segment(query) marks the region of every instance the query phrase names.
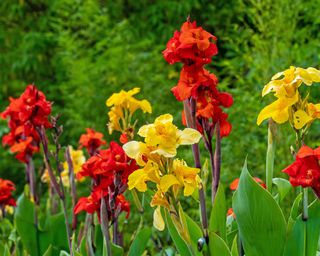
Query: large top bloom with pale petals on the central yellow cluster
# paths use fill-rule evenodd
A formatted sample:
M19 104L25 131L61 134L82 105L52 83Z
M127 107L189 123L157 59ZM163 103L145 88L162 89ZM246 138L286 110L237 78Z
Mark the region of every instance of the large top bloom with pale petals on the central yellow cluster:
M199 142L201 133L195 129L185 128L179 130L173 123L170 114L164 114L156 118L153 124L142 126L138 134L145 138L145 143L164 157L174 157L180 145L191 145Z

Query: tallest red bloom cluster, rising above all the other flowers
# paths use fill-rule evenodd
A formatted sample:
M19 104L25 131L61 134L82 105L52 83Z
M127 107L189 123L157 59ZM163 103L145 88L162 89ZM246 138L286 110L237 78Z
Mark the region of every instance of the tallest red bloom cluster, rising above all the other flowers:
M216 40L215 36L202 27L197 27L195 21L188 20L169 40L163 56L170 64L184 64L179 82L171 91L179 101L189 98L196 101L198 130L210 133L219 122L223 137L229 135L232 126L221 107L229 108L233 104L233 98L228 93L219 92L217 77L203 67L218 53Z

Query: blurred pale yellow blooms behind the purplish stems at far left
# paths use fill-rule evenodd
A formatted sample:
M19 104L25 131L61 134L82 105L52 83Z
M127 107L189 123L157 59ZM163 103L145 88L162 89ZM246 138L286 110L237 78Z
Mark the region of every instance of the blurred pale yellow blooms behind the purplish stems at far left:
M71 146L69 146L69 150L70 150L70 157L71 157L71 161L72 161L72 165L73 165L73 172L74 172L74 175L76 175L81 170L81 167L85 163L86 158L85 158L82 150L74 150ZM68 167L67 162L63 163L63 171L61 172L61 179L62 179L62 183L65 187L70 186L69 167ZM83 179L80 181L83 181ZM78 180L78 179L76 179L76 180ZM50 176L49 176L47 169L44 171L44 173L41 177L41 181L43 183L47 183L47 184L50 183Z

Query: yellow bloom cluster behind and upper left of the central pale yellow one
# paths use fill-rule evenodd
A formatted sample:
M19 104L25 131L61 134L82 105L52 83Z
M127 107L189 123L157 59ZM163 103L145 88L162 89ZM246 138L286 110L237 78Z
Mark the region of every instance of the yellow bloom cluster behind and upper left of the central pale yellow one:
M131 124L131 118L136 110L141 109L143 113L151 113L151 105L147 100L137 100L133 97L140 92L140 88L133 88L130 91L121 90L119 93L114 93L107 100L107 107L111 107L108 113L109 133L113 131L120 131L129 136L132 136L130 129L134 128L135 123Z

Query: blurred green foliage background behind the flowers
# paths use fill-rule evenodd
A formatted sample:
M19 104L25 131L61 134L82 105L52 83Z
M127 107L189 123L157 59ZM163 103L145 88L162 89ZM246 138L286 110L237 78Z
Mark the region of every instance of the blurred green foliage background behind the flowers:
M190 15L218 37L219 54L209 68L235 99L229 111L233 131L223 140L222 180L228 184L239 175L246 155L249 168L264 178L267 126L258 127L256 117L271 98L261 99L261 89L290 65L320 67L319 5L319 0L2 0L0 109L9 96L35 83L54 101L54 113L62 114L63 144L77 146L86 127L110 141L105 100L141 87L153 113L140 120L171 113L180 124L182 104L170 92L180 67L168 65L161 51ZM320 96L318 88L313 95ZM1 121L0 136L6 131ZM294 137L288 131L279 131L276 175L291 161ZM308 144L319 145L319 133L312 134ZM0 154L0 177L12 179L20 192L24 167L8 150Z

